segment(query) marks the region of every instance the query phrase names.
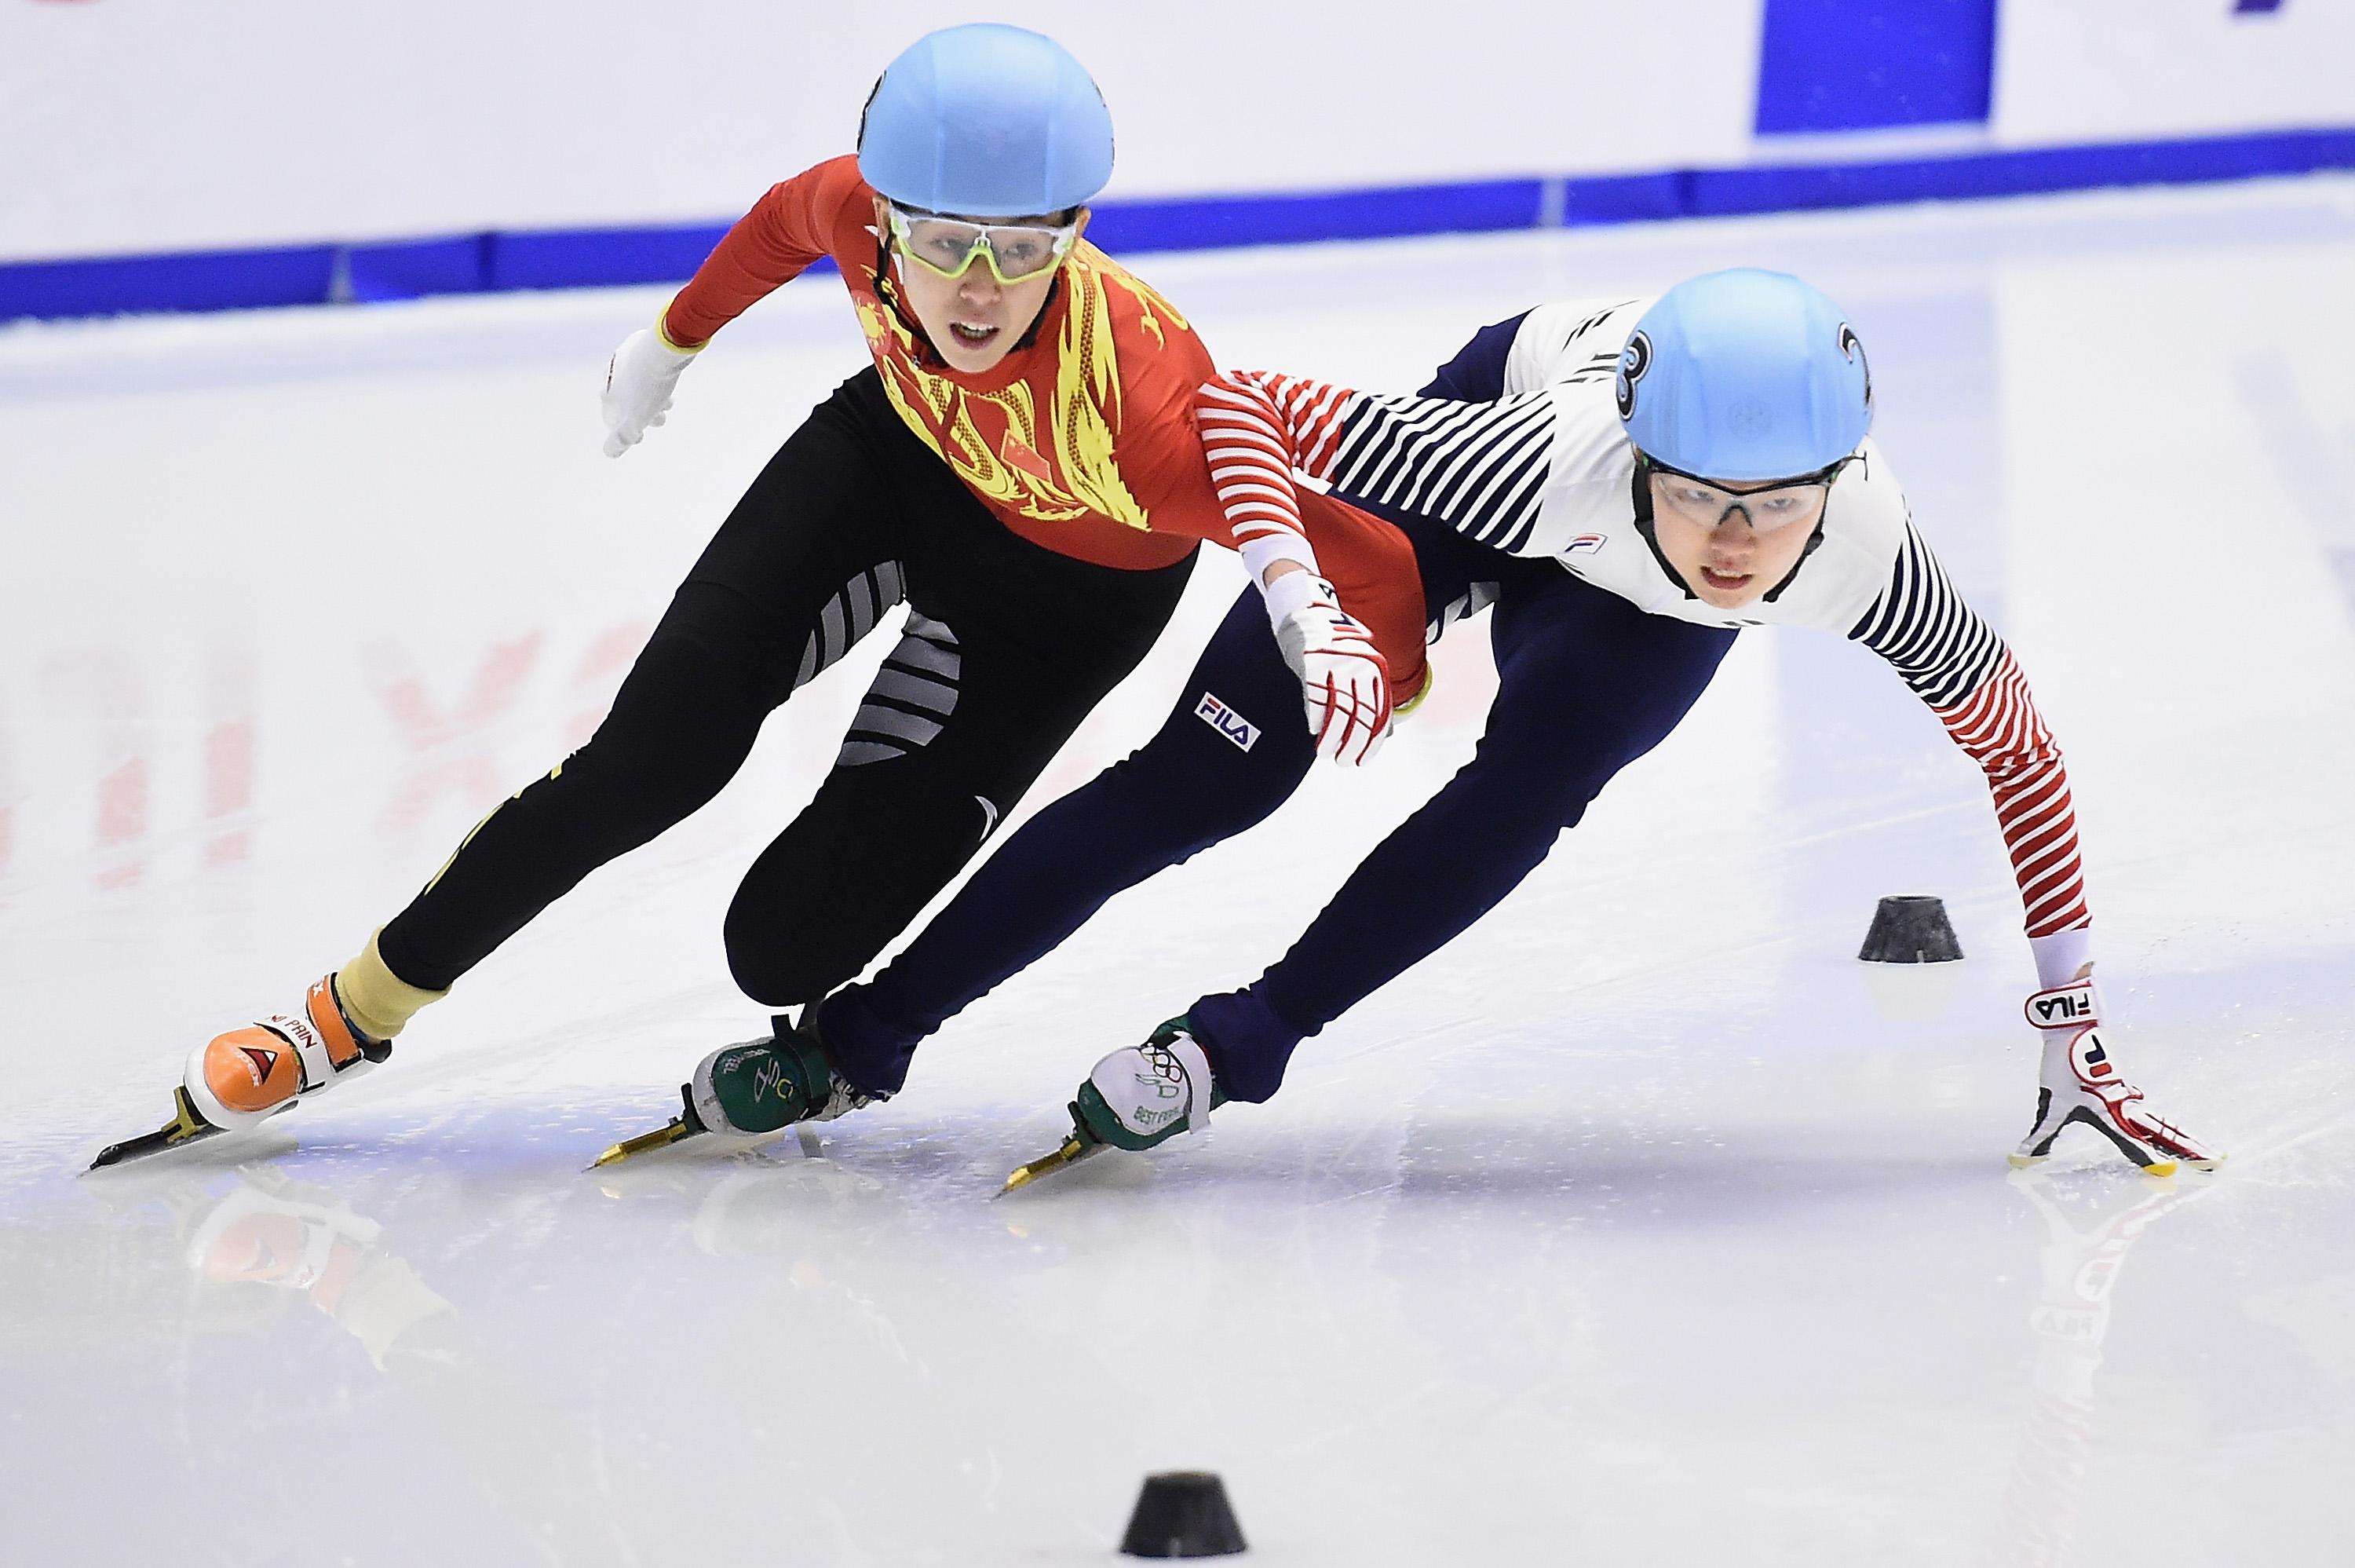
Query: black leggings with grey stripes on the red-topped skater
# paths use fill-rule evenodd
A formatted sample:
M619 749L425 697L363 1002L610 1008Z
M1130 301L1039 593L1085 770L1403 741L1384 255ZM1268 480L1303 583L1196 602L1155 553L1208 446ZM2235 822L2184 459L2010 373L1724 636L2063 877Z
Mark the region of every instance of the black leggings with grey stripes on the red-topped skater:
M384 928L384 963L445 989L711 800L761 720L907 600L834 770L728 909L737 984L772 1008L817 1001L973 859L1152 647L1189 570L1097 567L1017 537L867 370L737 501L589 744L485 817Z

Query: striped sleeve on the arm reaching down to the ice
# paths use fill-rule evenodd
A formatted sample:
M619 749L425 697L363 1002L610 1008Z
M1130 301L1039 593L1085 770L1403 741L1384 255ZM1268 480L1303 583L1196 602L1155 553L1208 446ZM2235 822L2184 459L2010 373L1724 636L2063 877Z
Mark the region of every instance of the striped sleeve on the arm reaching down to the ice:
M2077 808L2061 746L2028 676L1995 629L1962 600L1922 534L1905 523L1889 586L1849 638L1889 659L1945 732L1988 775L1995 819L2021 883L2028 935L2084 930Z

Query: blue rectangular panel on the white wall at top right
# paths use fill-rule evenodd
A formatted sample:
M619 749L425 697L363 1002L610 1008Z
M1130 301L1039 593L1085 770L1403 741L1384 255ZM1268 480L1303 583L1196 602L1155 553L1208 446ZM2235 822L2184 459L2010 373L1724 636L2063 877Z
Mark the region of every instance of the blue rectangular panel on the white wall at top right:
M1762 137L1985 122L1995 0L1766 0Z

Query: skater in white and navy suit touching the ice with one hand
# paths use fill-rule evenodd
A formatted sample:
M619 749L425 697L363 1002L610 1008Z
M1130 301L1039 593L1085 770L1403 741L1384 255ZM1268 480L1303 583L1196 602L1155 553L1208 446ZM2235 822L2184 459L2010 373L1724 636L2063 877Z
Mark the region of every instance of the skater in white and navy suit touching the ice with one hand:
M1081 1090L1081 1140L1152 1147L1210 1104L1267 1099L1293 1048L1465 930L1707 687L1740 629L1813 626L1879 655L1988 777L2042 989L2042 1083L2018 1163L2082 1121L2160 1175L2216 1156L2127 1085L2103 1043L2061 749L2004 640L1962 600L1868 438L1872 374L1830 299L1729 271L1656 301L1540 306L1479 332L1422 396L1234 372L1201 396L1236 525L1288 520L1295 476L1415 542L1434 633L1493 605L1479 751L1243 991L1203 996ZM944 1017L1112 892L1274 810L1309 765L1298 702L1239 603L1135 756L1041 812L871 984L820 1008L829 1052L890 1078ZM1260 727L1246 751L1203 697ZM1253 779L1239 784L1236 779ZM1185 1111L1168 1118L1170 1088Z

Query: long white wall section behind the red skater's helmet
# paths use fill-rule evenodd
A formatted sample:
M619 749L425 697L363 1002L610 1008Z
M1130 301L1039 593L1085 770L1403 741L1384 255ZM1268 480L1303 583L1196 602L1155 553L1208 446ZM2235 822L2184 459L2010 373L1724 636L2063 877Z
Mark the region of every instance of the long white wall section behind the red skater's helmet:
M732 217L977 14L1088 64L1126 195L1750 144L1757 0L0 0L0 259Z

